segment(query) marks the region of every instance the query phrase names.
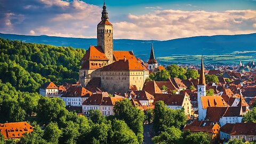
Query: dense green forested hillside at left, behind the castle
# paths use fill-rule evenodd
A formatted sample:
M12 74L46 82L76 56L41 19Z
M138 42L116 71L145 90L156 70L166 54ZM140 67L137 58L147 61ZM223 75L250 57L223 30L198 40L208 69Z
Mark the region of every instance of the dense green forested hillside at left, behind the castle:
M75 83L84 54L84 49L0 38L0 79L28 92L49 81Z

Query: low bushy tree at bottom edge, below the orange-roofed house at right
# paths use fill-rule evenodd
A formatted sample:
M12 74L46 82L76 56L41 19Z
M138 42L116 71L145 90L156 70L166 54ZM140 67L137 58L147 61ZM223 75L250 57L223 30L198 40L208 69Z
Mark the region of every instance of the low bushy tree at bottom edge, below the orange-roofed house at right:
M209 134L204 132L191 133L186 137L186 142L191 144L209 144L210 140Z

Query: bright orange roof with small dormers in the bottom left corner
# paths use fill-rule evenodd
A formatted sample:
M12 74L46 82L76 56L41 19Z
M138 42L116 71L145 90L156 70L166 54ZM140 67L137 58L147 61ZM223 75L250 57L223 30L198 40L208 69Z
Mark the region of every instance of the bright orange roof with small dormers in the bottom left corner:
M16 122L16 123L4 123L0 124L0 132L7 138L20 138L25 135L25 133L33 132L33 126L27 122Z

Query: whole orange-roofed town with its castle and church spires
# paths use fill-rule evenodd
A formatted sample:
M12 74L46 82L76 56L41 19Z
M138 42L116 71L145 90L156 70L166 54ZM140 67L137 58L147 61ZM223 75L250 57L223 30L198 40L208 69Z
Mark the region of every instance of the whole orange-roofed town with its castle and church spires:
M202 54L201 65L161 65L152 42L148 46L149 59L142 61L133 51L115 51L115 26L108 19L105 3L102 8L97 45L86 50L77 83L46 82L40 86L39 94L59 98L68 111L87 118L95 110L105 117L114 116L115 104L123 100L129 100L133 107L149 115L148 111L162 101L167 109L182 110L185 114L182 132L204 132L211 143L256 140L256 121L249 116L254 115L255 119L253 60L249 63L237 60L237 66L210 66L204 63ZM154 137L159 137L162 128L156 133L153 125L153 117L143 122L143 143L153 140L159 143ZM0 132L5 139L19 139L33 132L33 126L26 121L6 122L0 124Z

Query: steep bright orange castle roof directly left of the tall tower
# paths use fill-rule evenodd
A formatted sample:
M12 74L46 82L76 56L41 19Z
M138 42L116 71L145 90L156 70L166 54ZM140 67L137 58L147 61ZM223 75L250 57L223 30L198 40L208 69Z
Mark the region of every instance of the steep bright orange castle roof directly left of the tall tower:
M82 60L108 60L108 58L102 51L101 46L90 46L90 48L86 50L86 53Z

